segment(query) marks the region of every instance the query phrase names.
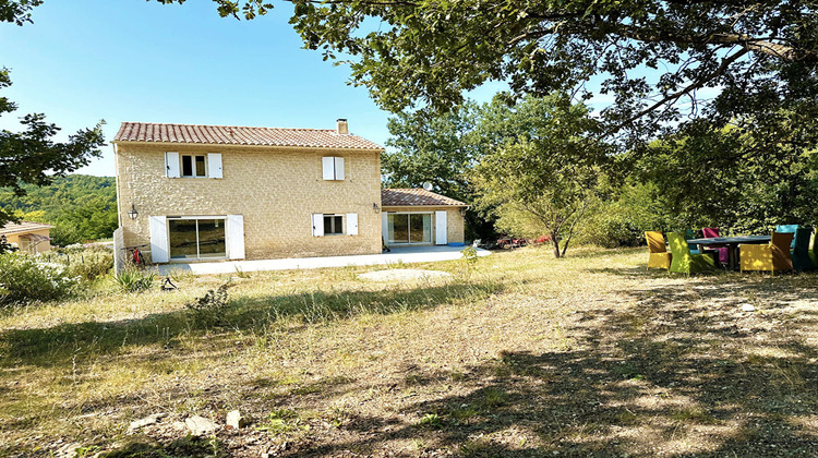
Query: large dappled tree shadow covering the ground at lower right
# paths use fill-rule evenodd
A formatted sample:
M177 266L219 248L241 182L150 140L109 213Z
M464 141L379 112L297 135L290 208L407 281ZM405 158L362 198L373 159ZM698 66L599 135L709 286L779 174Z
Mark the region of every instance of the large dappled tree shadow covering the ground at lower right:
M361 413L344 426L354 439L316 438L287 456L386 455L407 442L421 456L818 456L816 311L790 322L736 310L753 297L773 311L818 303L816 278L691 281L646 285L634 306L585 309L567 323L568 350L510 350L457 381L410 367L406 387L460 388L404 403L413 422Z

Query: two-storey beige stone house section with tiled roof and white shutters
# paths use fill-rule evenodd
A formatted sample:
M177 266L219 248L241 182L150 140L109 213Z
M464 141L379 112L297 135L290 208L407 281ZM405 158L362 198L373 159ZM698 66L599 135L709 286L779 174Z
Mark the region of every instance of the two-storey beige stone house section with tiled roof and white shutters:
M332 130L125 122L112 143L122 243L144 245L154 263L381 253L383 147L346 120Z

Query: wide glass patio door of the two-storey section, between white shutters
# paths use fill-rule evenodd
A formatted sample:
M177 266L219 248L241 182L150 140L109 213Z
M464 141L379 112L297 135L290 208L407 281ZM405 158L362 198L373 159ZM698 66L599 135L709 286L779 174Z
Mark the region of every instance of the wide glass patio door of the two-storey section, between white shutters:
M227 257L225 218L168 218L170 257Z

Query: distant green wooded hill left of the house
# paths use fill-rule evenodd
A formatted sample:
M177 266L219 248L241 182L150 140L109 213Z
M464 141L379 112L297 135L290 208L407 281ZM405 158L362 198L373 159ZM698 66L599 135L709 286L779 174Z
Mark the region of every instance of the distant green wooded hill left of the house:
M23 185L16 196L0 188L0 207L26 220L48 222L52 243L67 245L83 240L107 239L117 229L117 188L113 177L70 174L48 186Z

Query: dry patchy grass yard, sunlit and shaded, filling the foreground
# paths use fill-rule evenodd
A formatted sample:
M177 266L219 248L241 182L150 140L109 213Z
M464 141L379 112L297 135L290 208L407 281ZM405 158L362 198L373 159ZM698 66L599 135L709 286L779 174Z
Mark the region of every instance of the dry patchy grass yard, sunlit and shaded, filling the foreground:
M0 455L818 454L818 276L687 278L646 257L530 248L404 284L182 275L3 311ZM230 277L218 320L185 310ZM232 409L250 426L178 423Z

